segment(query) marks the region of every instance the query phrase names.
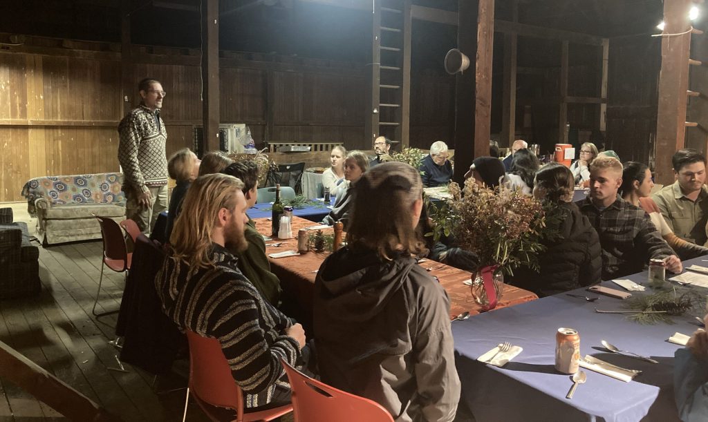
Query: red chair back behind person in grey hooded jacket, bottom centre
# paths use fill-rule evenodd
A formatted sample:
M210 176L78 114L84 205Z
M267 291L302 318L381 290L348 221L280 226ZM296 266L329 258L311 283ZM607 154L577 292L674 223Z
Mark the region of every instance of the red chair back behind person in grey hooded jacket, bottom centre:
M393 422L389 411L377 402L336 389L304 375L280 360L292 389L295 422Z

